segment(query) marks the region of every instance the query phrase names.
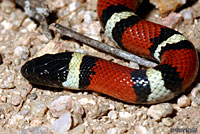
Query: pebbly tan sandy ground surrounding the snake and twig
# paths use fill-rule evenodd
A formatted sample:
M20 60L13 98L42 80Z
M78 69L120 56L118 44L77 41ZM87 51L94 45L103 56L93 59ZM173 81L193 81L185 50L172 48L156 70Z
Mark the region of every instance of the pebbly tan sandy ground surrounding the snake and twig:
M57 15L49 18L52 22L114 45L102 34L96 2L49 0L50 9ZM85 52L116 63L129 63L72 39L60 38L58 34L49 41L41 27L28 18L22 8L15 7L13 3L5 6L3 2L0 2L0 7L0 133L200 133L199 78L183 96L153 106L127 104L94 92L57 90L29 84L20 73L21 66L45 53ZM181 8L179 13L191 12L191 18L183 18L175 25L175 29L197 49L200 49L199 8L200 1ZM164 21L155 8L145 15L154 22ZM137 64L131 63L131 66ZM63 103L61 113L54 103ZM59 119L66 121L60 122Z

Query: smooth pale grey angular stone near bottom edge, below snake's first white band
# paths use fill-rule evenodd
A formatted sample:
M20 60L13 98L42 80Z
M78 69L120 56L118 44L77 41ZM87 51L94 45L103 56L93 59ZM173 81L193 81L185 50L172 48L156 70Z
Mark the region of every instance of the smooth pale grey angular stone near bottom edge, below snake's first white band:
M55 132L65 133L70 129L71 126L72 126L71 113L67 112L61 115L57 120L55 120L51 124L50 129Z

